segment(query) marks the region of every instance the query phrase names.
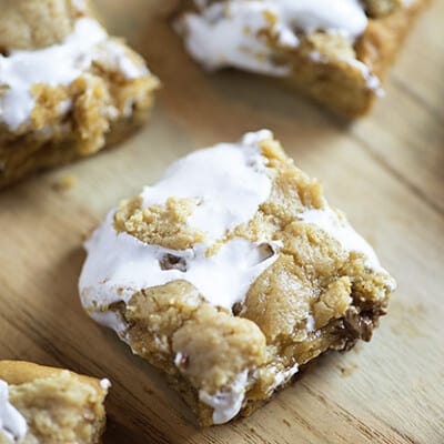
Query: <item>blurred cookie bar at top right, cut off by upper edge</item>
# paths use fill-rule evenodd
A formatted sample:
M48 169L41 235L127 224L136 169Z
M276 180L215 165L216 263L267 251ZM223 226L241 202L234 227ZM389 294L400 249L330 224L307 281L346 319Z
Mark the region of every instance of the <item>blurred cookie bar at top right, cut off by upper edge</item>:
M212 71L234 67L281 79L357 117L427 0L188 0L175 28Z

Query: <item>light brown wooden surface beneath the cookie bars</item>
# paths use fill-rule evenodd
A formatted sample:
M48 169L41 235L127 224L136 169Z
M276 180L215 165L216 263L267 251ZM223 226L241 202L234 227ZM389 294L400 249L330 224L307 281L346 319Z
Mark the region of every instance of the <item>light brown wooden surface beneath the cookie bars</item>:
M444 1L410 36L386 98L351 125L252 75L202 73L163 19L168 1L98 6L163 90L121 149L0 194L0 356L108 376L105 444L444 443ZM262 127L323 180L398 291L370 344L322 359L252 417L200 431L163 377L83 314L82 235L172 160ZM67 174L74 186L54 190Z

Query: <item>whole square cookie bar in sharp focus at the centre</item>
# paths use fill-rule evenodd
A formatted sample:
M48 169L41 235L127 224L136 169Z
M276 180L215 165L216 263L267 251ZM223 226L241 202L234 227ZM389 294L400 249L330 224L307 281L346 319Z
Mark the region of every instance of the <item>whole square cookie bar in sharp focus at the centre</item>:
M85 248L84 310L165 372L204 426L369 341L395 287L266 130L176 161Z

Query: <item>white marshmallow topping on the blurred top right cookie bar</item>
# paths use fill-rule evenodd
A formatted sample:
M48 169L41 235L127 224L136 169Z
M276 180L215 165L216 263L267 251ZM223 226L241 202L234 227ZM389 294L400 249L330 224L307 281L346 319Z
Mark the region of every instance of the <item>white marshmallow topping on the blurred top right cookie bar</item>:
M359 0L202 0L195 4L198 12L184 13L175 27L186 50L208 70L234 67L287 77L297 67L276 63L274 46L284 51L295 49L301 33L314 31L341 34L353 44L367 27ZM270 44L270 39L275 43ZM317 51L312 51L311 59L329 61ZM382 92L379 79L363 62L342 60L362 72L369 89Z

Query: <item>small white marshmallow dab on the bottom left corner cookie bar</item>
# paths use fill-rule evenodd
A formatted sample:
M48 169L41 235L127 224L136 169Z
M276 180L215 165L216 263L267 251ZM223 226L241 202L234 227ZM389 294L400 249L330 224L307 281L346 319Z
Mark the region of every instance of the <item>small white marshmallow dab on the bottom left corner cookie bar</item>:
M28 431L27 421L9 402L8 383L0 380L0 437L3 434L12 442L22 440Z

